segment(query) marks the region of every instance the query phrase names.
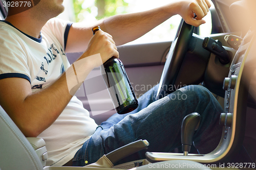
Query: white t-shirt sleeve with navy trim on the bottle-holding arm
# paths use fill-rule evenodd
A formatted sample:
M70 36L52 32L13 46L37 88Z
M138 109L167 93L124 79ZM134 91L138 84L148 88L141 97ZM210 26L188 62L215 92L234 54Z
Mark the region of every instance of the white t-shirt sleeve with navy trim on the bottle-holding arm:
M1 30L0 48L0 79L17 77L31 82L28 59L18 38Z

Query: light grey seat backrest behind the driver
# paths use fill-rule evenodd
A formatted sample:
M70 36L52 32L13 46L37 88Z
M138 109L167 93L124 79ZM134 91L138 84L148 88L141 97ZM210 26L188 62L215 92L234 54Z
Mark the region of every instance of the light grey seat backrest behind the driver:
M0 169L43 169L33 147L1 106Z

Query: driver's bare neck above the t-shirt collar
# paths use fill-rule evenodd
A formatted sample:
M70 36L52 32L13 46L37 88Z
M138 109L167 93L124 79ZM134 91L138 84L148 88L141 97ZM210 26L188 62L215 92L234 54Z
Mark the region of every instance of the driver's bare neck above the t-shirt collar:
M41 21L28 15L19 14L7 16L5 20L10 22L20 31L35 38L40 38L40 31L47 22L47 20Z

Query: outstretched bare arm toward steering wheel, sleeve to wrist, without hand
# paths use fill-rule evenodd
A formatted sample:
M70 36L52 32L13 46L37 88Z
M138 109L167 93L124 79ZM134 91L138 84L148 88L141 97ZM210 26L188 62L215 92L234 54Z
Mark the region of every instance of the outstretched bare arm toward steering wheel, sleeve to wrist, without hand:
M112 35L116 45L133 41L175 15L176 5L169 4L144 12L115 15L92 25L73 23L69 31L66 51L72 53L86 51L88 42L93 36L92 28L95 26L100 26L102 31Z

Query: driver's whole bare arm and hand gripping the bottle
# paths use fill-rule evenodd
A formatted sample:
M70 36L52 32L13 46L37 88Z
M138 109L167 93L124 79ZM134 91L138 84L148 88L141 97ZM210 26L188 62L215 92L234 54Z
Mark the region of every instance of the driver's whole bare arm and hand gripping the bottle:
M99 58L92 56L97 54L100 54ZM0 80L0 105L26 137L36 137L54 123L80 87L81 83L74 86L72 79L76 78L73 73L76 72L83 81L94 67L112 56L118 57L115 42L109 34L98 31L90 40L87 51L76 61L75 71L71 65L46 88L32 93L26 79ZM73 84L72 89L69 89L68 84Z

